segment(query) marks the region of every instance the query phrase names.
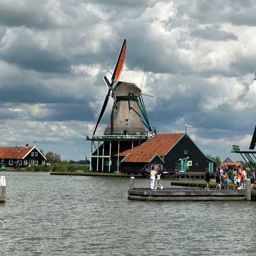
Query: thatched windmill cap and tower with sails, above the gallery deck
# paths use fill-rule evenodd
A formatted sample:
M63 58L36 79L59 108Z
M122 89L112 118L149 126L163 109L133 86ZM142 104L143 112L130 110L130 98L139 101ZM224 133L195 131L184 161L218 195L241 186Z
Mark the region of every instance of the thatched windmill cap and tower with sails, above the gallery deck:
M134 83L119 81L125 59L125 50L126 39L123 40L111 79L109 80L106 74L103 77L109 90L103 102L93 136L96 133L97 127L105 112L106 106L108 105L110 95L112 96L114 103L112 106L111 118L104 131L104 135L144 134L144 125L148 131L152 132L141 90Z

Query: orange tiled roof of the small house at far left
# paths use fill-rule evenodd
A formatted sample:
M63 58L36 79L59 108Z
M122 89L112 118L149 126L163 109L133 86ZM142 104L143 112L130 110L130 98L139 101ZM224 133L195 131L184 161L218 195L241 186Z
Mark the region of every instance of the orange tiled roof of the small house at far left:
M0 159L22 159L32 148L32 146L0 146Z

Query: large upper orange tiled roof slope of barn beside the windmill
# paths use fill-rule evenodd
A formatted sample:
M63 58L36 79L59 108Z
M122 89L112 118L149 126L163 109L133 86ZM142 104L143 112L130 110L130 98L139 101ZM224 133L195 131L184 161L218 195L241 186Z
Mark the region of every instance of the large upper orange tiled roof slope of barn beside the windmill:
M158 154L159 156L163 156L179 139L182 138L183 135L184 133L157 134L139 146L134 147L133 150L120 152L119 156L127 156L129 153L133 155Z

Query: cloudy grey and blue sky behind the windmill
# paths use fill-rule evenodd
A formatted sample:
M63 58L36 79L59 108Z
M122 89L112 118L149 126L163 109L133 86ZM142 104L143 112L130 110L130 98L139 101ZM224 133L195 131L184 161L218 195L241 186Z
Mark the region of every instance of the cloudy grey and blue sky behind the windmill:
M239 159L231 144L248 148L256 124L255 13L254 0L1 0L0 144L89 156L102 77L126 38L120 80L140 85L146 68L157 131L191 123L205 154Z

